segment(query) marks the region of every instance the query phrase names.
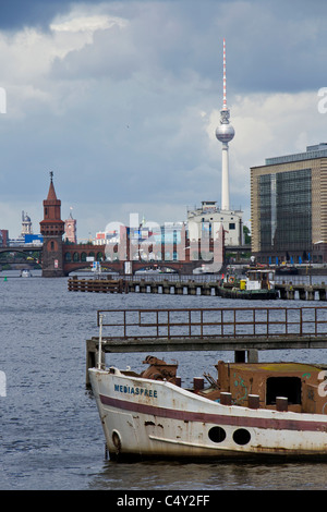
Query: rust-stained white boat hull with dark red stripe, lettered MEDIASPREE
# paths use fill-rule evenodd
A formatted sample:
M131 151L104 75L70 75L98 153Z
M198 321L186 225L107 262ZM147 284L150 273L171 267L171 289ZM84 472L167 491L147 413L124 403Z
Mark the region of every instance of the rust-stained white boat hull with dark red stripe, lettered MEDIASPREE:
M111 459L327 455L323 414L222 405L117 368L89 378Z

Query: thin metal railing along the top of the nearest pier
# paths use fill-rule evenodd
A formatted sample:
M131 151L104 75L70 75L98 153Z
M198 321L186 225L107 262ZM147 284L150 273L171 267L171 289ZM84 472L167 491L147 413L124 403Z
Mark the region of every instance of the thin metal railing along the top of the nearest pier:
M327 337L327 307L101 309L104 339Z

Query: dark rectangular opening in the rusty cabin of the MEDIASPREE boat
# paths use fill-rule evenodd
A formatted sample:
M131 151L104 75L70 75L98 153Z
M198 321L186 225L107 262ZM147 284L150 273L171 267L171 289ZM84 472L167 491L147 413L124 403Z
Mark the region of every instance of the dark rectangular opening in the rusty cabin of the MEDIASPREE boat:
M291 404L301 404L300 377L268 377L266 404L276 404L276 397L286 397Z

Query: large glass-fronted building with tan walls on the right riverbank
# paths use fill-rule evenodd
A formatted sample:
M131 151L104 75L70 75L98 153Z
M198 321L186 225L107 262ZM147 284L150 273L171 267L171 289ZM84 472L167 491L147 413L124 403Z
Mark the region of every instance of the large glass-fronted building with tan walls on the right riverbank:
M251 168L252 253L258 263L327 261L327 144Z

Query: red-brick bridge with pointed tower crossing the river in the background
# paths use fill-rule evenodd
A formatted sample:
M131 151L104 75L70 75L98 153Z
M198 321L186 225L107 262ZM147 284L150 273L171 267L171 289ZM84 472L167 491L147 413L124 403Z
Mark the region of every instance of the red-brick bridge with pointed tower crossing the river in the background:
M222 265L223 256L223 233L218 241L208 240L206 243L206 254L210 253L211 260L204 260L201 257L194 257L194 254L201 255L201 241L191 242L183 235L183 244L177 243L165 244L161 242L156 246L148 248L148 254L156 254L155 259L143 260L140 256L140 247L137 244L131 244L129 240L129 231L125 229L121 233L121 242L117 246L108 247L108 245L74 244L64 242L64 222L61 220L61 202L57 198L55 185L52 182L52 173L50 173L50 186L47 199L44 200L44 220L40 222L40 233L44 237L41 246L10 246L0 247L1 252L38 252L43 267L44 277L63 277L83 268L90 268L92 260L100 261L102 268L107 268L114 272L134 273L137 270L146 268L164 269L169 268L175 272L191 275L195 268L202 265L210 265L214 261L220 261L219 269ZM168 247L169 246L169 247ZM160 255L173 255L173 259L165 258L160 260ZM135 249L138 257L135 259ZM137 251L138 249L138 251ZM133 252L133 256L131 254ZM110 257L108 257L110 253ZM93 259L92 259L93 258ZM126 271L126 267L129 267ZM214 267L213 267L214 271Z

